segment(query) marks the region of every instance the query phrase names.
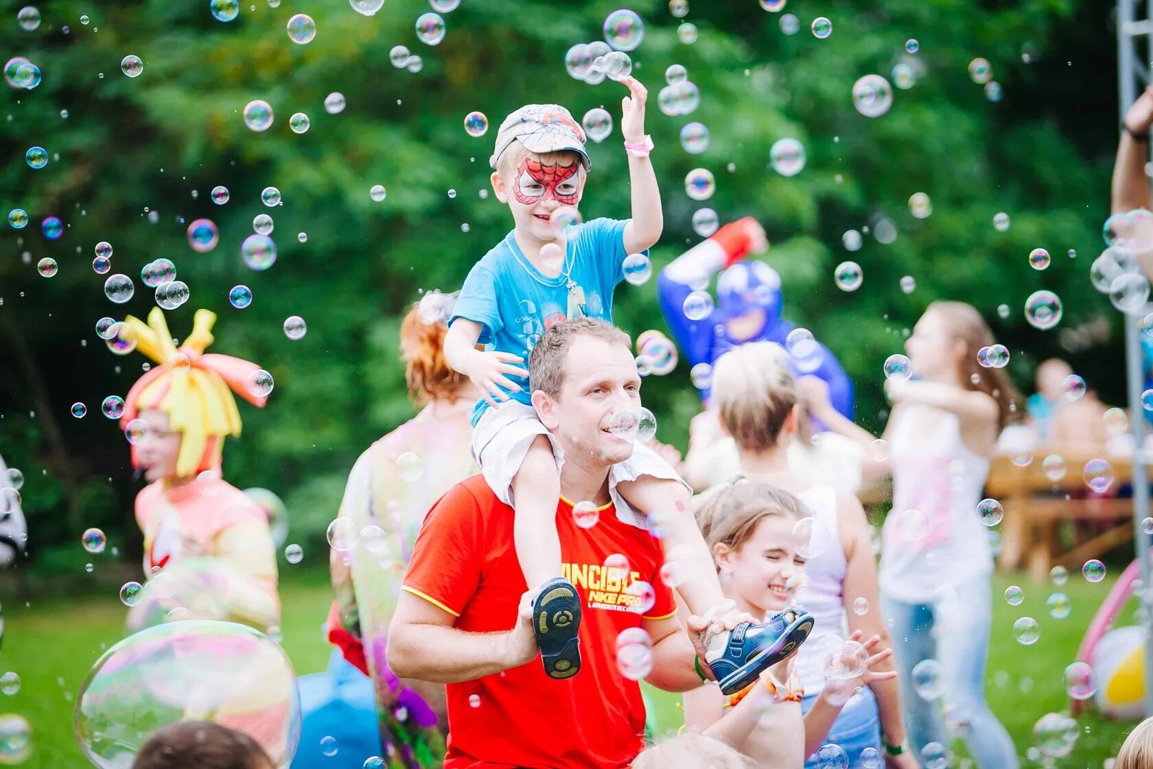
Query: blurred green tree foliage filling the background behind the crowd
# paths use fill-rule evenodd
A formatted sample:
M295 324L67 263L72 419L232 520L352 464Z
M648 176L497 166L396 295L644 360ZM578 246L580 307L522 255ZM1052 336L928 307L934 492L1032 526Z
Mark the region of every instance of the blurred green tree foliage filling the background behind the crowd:
M209 0L65 0L46 3L32 32L15 23L22 5L3 3L0 50L36 62L43 82L2 91L0 209L27 209L32 223L0 234L0 452L28 476L33 551L42 563L69 570L81 561L76 540L88 526L103 526L121 552L140 548L128 447L99 404L127 392L143 359L114 357L92 329L105 315L146 315L153 300L140 280L144 264L171 258L191 287L188 303L168 312L174 334L188 332L196 308L210 308L220 315L213 349L273 374L269 408L242 406L244 435L228 443L225 470L241 487L285 496L295 540L318 536L360 451L412 413L398 363L400 316L422 289L459 287L510 227L504 208L478 194L489 186L496 126L529 101L557 101L578 116L604 106L619 119L625 93L611 81L580 83L563 66L570 45L601 37L616 0L465 0L446 15L447 35L435 47L414 33L415 17L428 10L419 0L389 0L372 17L339 1L287 0L272 8L247 0L229 23L211 16ZM1075 0L830 0L819 7L790 0L785 12L800 18L790 37L779 14L752 0L698 1L685 20L700 30L691 45L678 40L679 21L663 3L633 8L646 20L634 74L650 91L648 125L665 206L655 266L699 240L689 219L701 204L685 196L683 180L707 167L717 190L704 205L723 220L752 214L764 223L773 241L764 258L783 277L786 317L841 357L867 427L883 424L881 362L936 299L980 308L1010 347L1023 387L1034 363L1062 352L1063 340L1091 385L1121 398L1120 342L1098 337L1086 344L1088 332L1077 331L1098 317L1116 326L1087 280L1101 247L1116 136L1114 65L1101 55L1113 51L1111 31L1102 8ZM285 31L300 12L318 29L308 45ZM817 13L834 24L824 40L808 30ZM905 53L907 38L920 43L915 55ZM423 70L393 68L394 45L421 55ZM137 78L120 73L129 53L144 60ZM990 103L970 80L975 56L992 62L1002 101ZM888 77L902 61L917 69L915 85L895 91L888 114L860 115L853 82L868 73ZM672 63L687 67L700 88L692 115L657 108ZM333 91L347 107L327 114L323 104ZM251 99L276 111L267 131L244 126L241 113ZM481 138L462 130L474 110L491 121ZM295 112L309 115L308 133L289 130ZM711 131L699 156L679 146L678 133L691 120ZM767 164L773 142L790 136L804 143L808 160L786 179ZM587 217L628 216L619 138L615 131L591 146ZM45 168L23 163L31 145L47 149ZM387 188L380 203L368 194L377 183ZM231 190L224 206L209 197L217 184ZM281 190L284 205L261 203L266 186ZM910 213L914 193L932 199L927 219ZM992 225L998 211L1011 217L1008 232ZM279 258L266 272L247 269L239 254L258 213L276 220ZM62 239L42 235L47 216L63 219ZM187 242L187 224L199 217L220 231L209 254ZM882 244L866 235L859 252L846 252L842 233L875 228L880 218L896 226L896 240ZM307 242L297 233L307 233ZM108 302L105 278L90 266L100 240L115 249L113 272L136 282L126 306ZM1039 246L1054 255L1045 272L1026 259ZM1069 259L1068 249L1079 256ZM59 262L59 274L37 274L44 256ZM845 258L864 267L856 293L832 281ZM906 274L917 280L910 295L898 287ZM247 309L227 302L236 284L255 294ZM1067 332L1042 333L1024 322L1025 296L1042 286L1063 297ZM1002 303L1011 310L1005 318L996 312ZM289 315L308 323L300 341L281 331ZM658 317L653 284L618 291L616 318L626 330L661 329ZM686 367L650 380L646 400L662 421L661 435L684 446L698 408ZM88 405L85 419L69 415L73 401Z

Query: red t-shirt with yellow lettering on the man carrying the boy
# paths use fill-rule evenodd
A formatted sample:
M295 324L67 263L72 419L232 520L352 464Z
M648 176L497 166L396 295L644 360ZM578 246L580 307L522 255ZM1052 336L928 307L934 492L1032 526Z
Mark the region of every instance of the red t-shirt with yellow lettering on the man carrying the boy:
M661 543L651 534L601 508L596 526L579 528L572 504L557 506L563 573L581 596L581 670L571 679L545 676L540 657L496 676L449 684L446 769L581 767L620 769L643 747L640 686L617 669L617 635L641 619L676 613L672 591L660 579ZM605 570L621 553L630 573ZM653 586L643 613L633 582ZM507 631L528 587L513 546L513 508L475 475L450 489L429 511L413 550L404 589L457 617L458 629ZM638 588L634 588L640 593Z

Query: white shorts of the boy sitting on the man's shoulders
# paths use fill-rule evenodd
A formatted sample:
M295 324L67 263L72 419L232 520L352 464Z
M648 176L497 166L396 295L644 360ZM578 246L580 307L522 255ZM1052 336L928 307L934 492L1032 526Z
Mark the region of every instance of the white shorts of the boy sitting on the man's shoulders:
M473 459L481 466L484 481L500 502L513 505L512 480L520 470L536 436L548 436L552 445L552 457L557 460L557 473L565 463L564 450L536 416L536 409L519 400L507 400L497 407L484 409L473 428L470 445ZM692 492L677 470L655 451L642 444L634 444L633 455L617 462L609 470L609 496L617 511L617 518L631 526L647 529L645 515L634 511L617 491L617 484L635 481L642 475L677 481ZM579 502L579 500L573 500Z

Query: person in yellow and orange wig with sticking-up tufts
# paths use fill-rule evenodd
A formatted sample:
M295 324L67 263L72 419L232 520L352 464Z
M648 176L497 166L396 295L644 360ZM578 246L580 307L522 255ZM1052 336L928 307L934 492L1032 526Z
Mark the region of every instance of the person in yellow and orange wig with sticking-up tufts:
M241 430L233 393L263 407L271 377L255 363L205 353L214 322L197 310L179 346L159 308L148 323L128 316L120 329L120 339L156 363L128 392L120 422L133 466L150 481L136 497L148 582L122 596L134 631L188 618L261 631L280 624L267 513L220 477L224 439Z

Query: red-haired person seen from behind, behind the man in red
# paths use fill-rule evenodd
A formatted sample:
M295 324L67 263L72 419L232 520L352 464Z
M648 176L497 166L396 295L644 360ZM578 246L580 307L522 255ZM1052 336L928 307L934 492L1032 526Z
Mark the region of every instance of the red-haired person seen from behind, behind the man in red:
M405 377L423 408L361 454L330 528L336 601L327 631L338 650L326 673L301 679L304 733L296 767L360 769L370 754L394 762L390 767L431 767L444 757L444 686L401 681L384 653L424 515L450 487L477 472L469 414L478 393L449 368L442 350L454 299L429 293L405 316ZM371 736L375 749L325 755L319 740L326 736L357 745Z

